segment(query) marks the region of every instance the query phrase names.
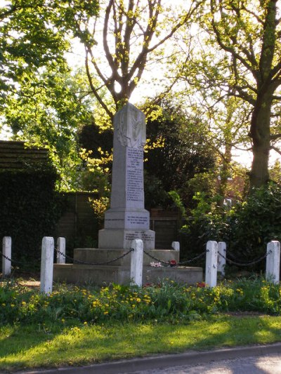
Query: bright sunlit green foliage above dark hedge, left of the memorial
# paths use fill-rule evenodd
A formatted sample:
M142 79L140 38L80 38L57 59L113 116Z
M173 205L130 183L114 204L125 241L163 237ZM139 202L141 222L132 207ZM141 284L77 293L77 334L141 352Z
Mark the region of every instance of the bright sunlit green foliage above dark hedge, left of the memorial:
M79 189L79 144L77 130L92 120L89 100L81 99L76 85L79 76L46 68L32 81L6 95L3 123L13 139L48 149L60 174L60 190Z

